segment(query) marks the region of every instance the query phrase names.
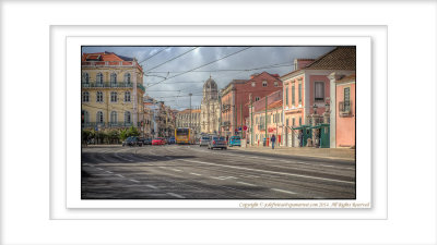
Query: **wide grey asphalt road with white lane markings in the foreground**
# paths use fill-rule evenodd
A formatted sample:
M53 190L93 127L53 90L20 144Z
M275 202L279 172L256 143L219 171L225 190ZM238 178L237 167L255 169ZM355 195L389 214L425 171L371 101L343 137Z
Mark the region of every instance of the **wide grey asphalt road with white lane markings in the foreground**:
M86 147L82 199L355 199L355 162L199 146Z

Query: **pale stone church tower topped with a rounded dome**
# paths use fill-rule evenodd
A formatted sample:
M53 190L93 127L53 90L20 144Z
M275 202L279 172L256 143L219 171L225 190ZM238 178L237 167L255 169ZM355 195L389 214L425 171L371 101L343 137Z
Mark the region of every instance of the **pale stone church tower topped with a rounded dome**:
M217 134L220 125L218 88L214 79L210 78L203 84L203 98L200 106L200 132Z

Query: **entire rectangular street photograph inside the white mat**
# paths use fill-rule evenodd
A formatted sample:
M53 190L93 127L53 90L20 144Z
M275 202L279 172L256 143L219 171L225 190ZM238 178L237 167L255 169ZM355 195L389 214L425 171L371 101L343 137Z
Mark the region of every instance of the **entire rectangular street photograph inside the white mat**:
M82 47L82 199L355 199L355 49Z

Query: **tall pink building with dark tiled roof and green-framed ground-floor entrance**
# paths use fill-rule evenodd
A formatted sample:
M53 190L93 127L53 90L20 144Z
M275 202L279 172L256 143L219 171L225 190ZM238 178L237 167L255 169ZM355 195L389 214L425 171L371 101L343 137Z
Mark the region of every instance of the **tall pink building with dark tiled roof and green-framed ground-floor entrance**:
M308 115L322 114L330 102L328 75L338 72L344 75L355 73L355 47L338 47L316 60L296 59L295 71L281 77L284 95L284 133L286 146L298 146L298 133L293 127L309 124Z

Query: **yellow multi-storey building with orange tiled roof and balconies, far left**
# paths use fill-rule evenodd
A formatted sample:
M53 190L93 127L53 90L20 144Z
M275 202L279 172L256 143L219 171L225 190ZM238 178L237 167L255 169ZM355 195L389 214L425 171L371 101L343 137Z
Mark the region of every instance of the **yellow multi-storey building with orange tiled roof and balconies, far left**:
M142 132L143 70L134 58L114 52L82 54L82 128Z

